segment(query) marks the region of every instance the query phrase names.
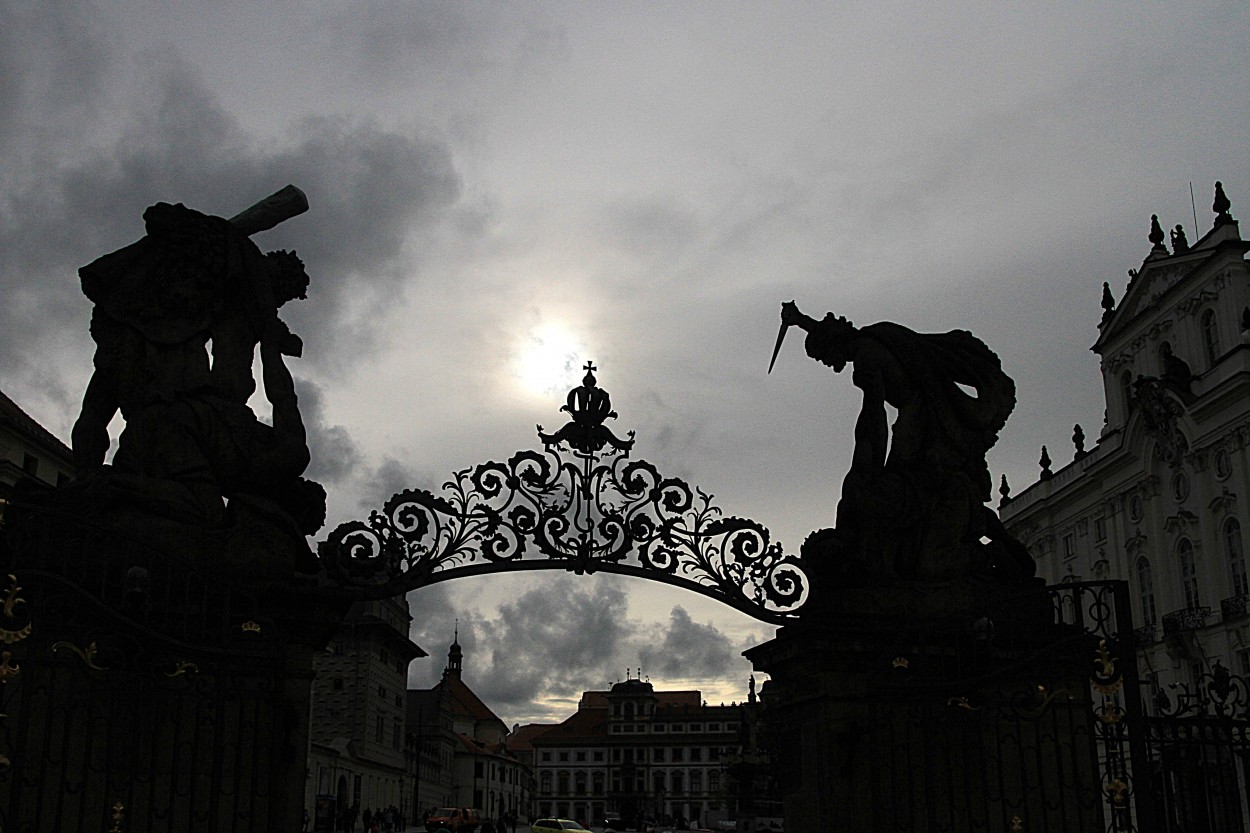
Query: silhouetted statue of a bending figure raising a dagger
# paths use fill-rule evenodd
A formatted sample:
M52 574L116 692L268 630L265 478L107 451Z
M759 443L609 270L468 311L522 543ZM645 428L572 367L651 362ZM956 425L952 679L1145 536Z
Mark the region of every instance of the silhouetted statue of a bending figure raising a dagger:
M818 321L794 301L781 305L781 326L806 330L808 355L835 373L852 364L864 393L838 525L809 538L805 559L835 558L846 583L1032 575L1025 548L985 505L985 453L1015 406L1015 384L982 341L965 330L856 328L832 313ZM886 405L898 411L892 433Z

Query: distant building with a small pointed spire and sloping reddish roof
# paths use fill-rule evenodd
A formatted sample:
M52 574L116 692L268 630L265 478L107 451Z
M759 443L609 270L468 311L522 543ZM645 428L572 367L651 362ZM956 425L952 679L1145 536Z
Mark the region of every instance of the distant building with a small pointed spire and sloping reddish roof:
M528 814L530 769L506 744L508 724L464 682L459 634L434 688L408 692L412 803L472 807L492 823Z

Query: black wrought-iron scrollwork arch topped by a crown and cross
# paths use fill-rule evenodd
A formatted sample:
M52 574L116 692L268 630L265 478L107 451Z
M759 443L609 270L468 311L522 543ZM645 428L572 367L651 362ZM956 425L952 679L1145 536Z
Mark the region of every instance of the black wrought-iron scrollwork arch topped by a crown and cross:
M460 575L562 568L650 578L765 622L791 622L808 577L761 524L726 517L712 495L631 460L594 365L561 410L571 422L544 450L456 472L438 495L406 489L320 547L330 574L370 597Z

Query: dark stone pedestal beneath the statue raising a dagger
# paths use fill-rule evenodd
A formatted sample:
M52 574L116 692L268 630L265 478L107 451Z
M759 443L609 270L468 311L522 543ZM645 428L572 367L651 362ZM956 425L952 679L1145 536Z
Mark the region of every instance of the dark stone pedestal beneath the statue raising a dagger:
M746 652L771 677L788 832L1105 829L1094 645L1051 624L1045 590L964 615L860 602Z

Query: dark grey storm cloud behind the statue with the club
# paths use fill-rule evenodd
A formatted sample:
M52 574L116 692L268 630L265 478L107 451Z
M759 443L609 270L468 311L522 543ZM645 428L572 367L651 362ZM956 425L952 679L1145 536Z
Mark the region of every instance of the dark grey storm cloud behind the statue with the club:
M312 336L304 361L332 371L345 354L371 349L379 335L371 318L419 269L420 253L405 251L405 241L419 243L459 195L449 149L325 118L264 144L192 70L174 58L154 60L152 80L116 141L29 175L0 203L0 279L18 300L0 311L0 355L21 355L41 334L84 333L88 304L75 270L141 236L148 205L184 201L230 216L286 183L302 188L312 209L258 244L298 249L311 275L315 301L284 309L294 329ZM325 359L331 354L334 365Z

